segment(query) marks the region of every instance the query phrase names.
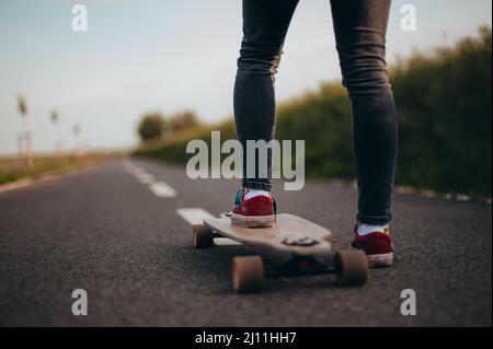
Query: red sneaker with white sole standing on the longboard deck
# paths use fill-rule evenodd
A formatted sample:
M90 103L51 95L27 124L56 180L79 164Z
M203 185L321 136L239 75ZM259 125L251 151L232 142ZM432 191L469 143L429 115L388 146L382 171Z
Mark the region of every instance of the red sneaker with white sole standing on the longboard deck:
M268 228L274 223L275 200L272 196L255 196L245 199L248 189L238 190L234 208L231 212L231 222L248 228Z

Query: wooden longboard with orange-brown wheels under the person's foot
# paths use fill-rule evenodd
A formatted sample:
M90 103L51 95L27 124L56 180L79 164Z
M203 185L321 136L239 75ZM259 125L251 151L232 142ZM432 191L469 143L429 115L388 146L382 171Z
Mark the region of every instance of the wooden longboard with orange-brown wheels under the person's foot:
M332 233L316 223L294 214L277 214L272 228L245 228L236 225L222 214L220 218L204 219L204 224L194 225L196 248L215 246L215 237L229 237L245 247L264 246L293 255L278 270L286 276L335 274L336 280L345 286L363 286L368 277L368 261L360 251L335 253L332 268L319 263L316 257L332 252ZM307 272L309 271L309 272ZM234 257L232 259L232 283L237 293L259 291L264 281L264 263L260 256Z

